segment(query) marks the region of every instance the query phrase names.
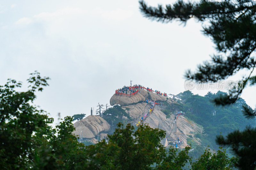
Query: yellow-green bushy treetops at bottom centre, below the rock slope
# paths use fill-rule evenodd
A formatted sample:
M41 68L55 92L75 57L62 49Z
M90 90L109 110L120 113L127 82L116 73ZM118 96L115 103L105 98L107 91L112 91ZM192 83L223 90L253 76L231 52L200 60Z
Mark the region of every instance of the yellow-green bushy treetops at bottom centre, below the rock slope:
M174 169L180 170L190 158L189 147L176 154L176 148L167 153L160 144L165 132L140 125L137 131L128 124L118 124L113 135L96 145L86 147L89 169ZM156 164L155 167L152 165Z

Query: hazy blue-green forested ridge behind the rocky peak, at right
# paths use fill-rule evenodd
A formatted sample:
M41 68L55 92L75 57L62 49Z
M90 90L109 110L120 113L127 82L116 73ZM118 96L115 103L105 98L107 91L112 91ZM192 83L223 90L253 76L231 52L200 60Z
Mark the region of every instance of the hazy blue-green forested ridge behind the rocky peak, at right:
M244 99L239 98L228 106L216 106L213 99L227 95L218 91L216 94L208 92L205 96L194 95L191 91L184 91L177 95L180 110L185 112L185 117L204 127L204 133L198 134L203 139L204 145L218 149L216 135L226 136L229 132L243 130L246 126L255 126L255 119L246 119L243 115ZM248 105L247 105L248 106ZM249 107L249 106L248 106Z

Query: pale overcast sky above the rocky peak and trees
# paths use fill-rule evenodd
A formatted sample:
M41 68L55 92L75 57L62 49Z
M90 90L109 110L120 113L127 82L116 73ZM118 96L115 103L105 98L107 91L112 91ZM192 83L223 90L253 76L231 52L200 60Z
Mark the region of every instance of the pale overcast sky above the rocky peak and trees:
M174 0L147 0L149 5ZM159 23L144 18L137 0L0 2L0 84L23 82L35 70L49 76L35 105L57 120L109 105L115 90L133 84L177 95L185 91L185 71L196 70L216 53L202 23ZM239 80L242 71L230 80ZM242 98L252 107L254 87ZM191 90L204 96L218 89ZM225 91L225 90L223 90Z

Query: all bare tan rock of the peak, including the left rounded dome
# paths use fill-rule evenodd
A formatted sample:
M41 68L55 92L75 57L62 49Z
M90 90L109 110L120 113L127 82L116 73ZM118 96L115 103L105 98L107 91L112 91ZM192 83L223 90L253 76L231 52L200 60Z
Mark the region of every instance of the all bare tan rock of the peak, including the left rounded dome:
M121 107L133 118L128 122L135 125L141 117L144 117L146 112L150 109L150 105L145 103L145 99L151 99L157 102L166 101L166 103L173 103L172 99L168 99L165 96L159 96L155 93L148 92L140 89L140 93L132 96L118 96L114 94L110 99L110 104L119 104ZM152 128L159 128L166 131L166 137L169 138L169 144L173 144L173 140L177 140L178 136L181 140L184 140L184 145L180 148L187 146L188 135L202 133L203 129L197 126L195 123L188 121L185 117L180 116L177 120L177 124L174 124L174 116L171 114L169 118L161 111L166 106L155 105L154 111L149 114L143 123L148 124ZM113 133L113 128L102 117L88 116L85 119L80 120L74 124L76 131L74 133L79 135L80 127L83 131L83 138L90 140L94 143L97 142L99 128L99 140L107 137L107 134Z

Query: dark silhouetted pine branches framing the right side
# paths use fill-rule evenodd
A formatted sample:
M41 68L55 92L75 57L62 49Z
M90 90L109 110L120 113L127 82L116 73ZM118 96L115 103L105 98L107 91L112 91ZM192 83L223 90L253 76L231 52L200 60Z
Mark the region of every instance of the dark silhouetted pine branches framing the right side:
M186 77L195 81L213 81L226 79L239 70L248 70L248 76L243 77L239 87L229 90L228 95L214 99L216 104L226 105L239 99L243 88L256 83L252 75L255 68L256 49L256 2L253 0L200 0L196 2L177 1L164 7L148 6L141 0L140 11L152 20L171 22L178 20L186 23L195 18L199 22L207 22L203 32L216 45L217 53L211 61L205 61L198 66L197 72L187 71ZM159 30L160 31L160 30ZM243 106L244 115L248 118L256 116L255 110L248 105ZM245 131L234 131L227 138L219 136L217 142L231 146L239 156L238 166L241 169L256 167L256 129L248 127Z

